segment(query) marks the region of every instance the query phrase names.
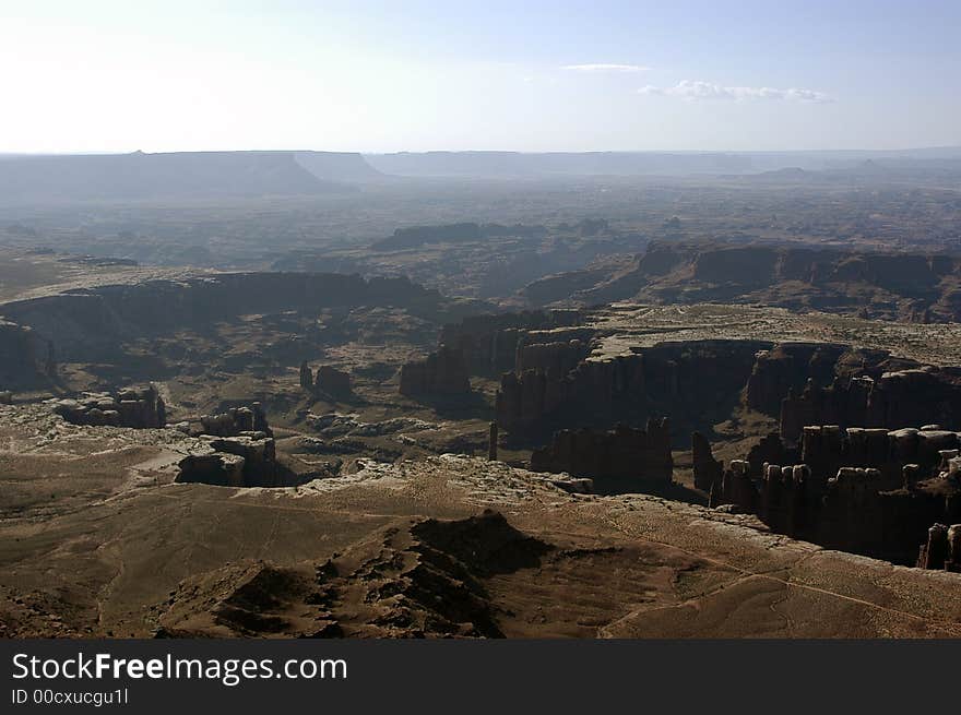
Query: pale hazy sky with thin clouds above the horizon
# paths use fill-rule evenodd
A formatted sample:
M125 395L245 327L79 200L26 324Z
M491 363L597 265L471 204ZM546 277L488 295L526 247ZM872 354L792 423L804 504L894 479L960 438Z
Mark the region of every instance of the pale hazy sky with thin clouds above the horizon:
M961 144L961 0L0 0L0 152Z

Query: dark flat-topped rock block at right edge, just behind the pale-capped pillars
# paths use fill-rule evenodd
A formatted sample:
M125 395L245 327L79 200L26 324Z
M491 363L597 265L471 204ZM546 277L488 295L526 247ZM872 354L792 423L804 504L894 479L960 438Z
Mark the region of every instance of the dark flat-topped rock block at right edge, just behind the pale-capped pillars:
M961 369L923 367L838 378L827 386L808 383L781 404L781 436L795 441L805 425L893 429L905 422L937 421L961 428Z

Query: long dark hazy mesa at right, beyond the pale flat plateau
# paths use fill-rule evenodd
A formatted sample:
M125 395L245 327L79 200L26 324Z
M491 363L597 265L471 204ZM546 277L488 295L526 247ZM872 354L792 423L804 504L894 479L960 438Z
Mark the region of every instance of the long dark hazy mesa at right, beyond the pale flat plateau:
M633 265L604 275L576 272L534 283L524 295L592 305L763 302L792 309L864 312L917 322L957 321L961 261L947 254L846 251L797 246L655 241ZM593 281L585 288L585 281Z

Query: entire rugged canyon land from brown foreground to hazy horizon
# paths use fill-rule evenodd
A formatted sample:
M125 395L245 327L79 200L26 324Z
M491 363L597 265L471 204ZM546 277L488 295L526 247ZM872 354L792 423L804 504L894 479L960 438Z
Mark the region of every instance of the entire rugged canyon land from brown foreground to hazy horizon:
M0 228L3 635L961 635L940 179L479 182L468 214L438 181L404 213L358 155L109 162L153 163L135 193L201 159L211 223Z

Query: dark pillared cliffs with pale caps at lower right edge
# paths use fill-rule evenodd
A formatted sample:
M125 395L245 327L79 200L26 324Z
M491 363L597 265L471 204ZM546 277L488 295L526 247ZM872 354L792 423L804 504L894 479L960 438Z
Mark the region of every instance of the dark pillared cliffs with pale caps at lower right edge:
M961 520L961 439L936 427L805 427L799 451L780 443L781 456L799 462L759 469L732 461L711 505L736 504L775 532L913 564L932 523ZM778 446L770 437L758 452L778 455ZM752 450L749 460L758 456Z

